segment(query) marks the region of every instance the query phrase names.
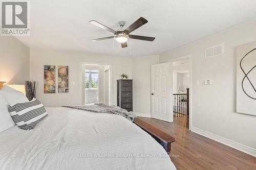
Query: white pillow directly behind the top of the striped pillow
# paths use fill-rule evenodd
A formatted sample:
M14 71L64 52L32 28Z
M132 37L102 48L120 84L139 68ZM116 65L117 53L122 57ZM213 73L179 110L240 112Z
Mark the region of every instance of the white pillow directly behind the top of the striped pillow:
M29 102L28 98L22 92L8 86L3 86L0 93L5 95L9 104Z

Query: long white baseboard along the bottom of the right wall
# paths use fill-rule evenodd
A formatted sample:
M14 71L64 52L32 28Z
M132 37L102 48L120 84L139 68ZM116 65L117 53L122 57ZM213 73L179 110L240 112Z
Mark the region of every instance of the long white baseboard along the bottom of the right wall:
M247 147L246 145L243 145L241 143L238 143L238 142L226 139L224 137L221 137L221 136L218 136L218 135L206 132L204 130L201 130L201 129L198 129L198 128L195 128L195 127L191 127L190 130L192 132L198 133L198 134L200 134L202 136L208 137L208 138L210 138L212 140L216 140L216 141L218 141L220 143L228 145L231 148L237 149L239 151L242 151L244 153L247 153L249 155L252 155L252 156L256 157L256 149Z

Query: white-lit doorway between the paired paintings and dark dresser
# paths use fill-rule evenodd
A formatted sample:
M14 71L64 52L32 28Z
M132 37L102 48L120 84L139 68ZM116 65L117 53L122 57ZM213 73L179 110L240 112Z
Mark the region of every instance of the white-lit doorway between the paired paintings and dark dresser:
M110 65L81 64L81 105L110 105L110 83Z

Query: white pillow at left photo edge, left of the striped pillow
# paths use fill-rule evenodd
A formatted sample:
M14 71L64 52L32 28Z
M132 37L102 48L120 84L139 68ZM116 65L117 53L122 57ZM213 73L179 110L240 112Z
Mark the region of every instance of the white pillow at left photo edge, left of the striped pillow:
M15 125L8 111L8 101L4 94L0 93L0 132Z

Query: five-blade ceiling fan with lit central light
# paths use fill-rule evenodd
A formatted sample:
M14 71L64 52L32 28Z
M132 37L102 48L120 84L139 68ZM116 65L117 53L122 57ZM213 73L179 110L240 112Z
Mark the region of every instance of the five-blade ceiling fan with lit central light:
M147 20L143 17L140 17L138 20L136 20L131 26L127 27L125 30L123 30L123 26L125 25L125 21L119 21L118 25L121 27L121 30L113 30L109 27L104 26L102 23L97 22L96 20L91 20L89 21L93 25L102 28L104 30L110 31L114 34L114 36L111 37L103 37L103 38L97 38L97 39L92 39L91 41L100 41L104 39L111 39L114 38L118 42L121 43L122 48L127 47L127 40L129 38L131 39L138 39L138 40L144 40L144 41L154 41L155 37L146 37L146 36L140 36L140 35L131 35L130 33L133 32L134 30L140 28L143 26L145 23L147 23Z

